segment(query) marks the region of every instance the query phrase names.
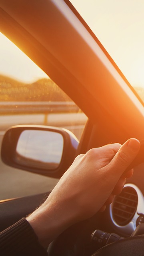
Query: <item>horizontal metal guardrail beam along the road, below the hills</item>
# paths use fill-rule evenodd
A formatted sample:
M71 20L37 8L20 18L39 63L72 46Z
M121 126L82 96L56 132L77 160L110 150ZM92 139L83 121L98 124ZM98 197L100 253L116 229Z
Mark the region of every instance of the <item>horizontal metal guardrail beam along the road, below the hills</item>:
M78 112L74 102L0 102L0 114Z

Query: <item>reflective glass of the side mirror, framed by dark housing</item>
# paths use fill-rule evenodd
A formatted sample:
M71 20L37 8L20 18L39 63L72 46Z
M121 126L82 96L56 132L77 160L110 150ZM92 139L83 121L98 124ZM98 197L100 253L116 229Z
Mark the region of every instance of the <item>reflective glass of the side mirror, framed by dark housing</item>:
M56 169L62 159L62 134L46 130L24 130L18 139L15 161L41 169Z

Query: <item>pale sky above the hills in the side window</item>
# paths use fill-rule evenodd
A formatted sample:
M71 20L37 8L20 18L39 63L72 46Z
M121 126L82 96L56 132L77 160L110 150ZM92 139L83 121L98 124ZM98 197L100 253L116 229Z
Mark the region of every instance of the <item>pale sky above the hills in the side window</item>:
M0 33L0 74L25 83L48 76L6 36Z

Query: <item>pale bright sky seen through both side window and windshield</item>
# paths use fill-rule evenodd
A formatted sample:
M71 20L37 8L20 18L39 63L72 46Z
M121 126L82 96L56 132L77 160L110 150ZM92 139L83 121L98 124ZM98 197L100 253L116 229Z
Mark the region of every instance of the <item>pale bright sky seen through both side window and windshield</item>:
M144 0L71 0L132 86L144 87ZM0 33L0 73L48 77Z

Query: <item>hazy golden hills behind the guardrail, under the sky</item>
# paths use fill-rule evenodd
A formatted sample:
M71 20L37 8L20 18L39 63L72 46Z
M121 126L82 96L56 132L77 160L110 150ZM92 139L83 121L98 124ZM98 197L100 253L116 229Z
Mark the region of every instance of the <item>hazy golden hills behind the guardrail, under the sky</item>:
M71 101L50 79L25 84L0 75L0 101Z

